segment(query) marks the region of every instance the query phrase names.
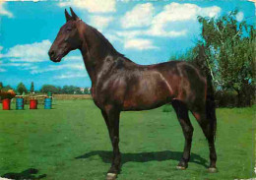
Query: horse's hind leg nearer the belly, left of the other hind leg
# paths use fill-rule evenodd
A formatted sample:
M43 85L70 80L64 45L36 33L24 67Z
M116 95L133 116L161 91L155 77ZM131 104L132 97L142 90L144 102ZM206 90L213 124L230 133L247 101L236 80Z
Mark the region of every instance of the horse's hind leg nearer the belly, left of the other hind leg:
M193 136L194 129L189 120L188 109L187 109L186 105L179 100L172 100L171 104L176 112L178 121L181 125L183 135L185 138L183 155L177 165L177 169L183 170L188 167L188 161L190 159L190 150L191 150L191 143L192 143L192 136Z

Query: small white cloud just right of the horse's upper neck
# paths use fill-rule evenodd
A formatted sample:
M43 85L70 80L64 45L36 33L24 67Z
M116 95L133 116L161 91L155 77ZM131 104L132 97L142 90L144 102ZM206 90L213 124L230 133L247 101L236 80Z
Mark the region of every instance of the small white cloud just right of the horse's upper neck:
M102 30L106 28L113 19L113 17L92 16L90 22L96 29Z

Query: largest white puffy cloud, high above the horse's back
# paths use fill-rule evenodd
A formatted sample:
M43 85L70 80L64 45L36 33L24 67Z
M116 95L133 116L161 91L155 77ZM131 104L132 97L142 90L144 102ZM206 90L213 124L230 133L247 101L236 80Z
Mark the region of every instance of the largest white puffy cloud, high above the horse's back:
M142 7L142 5L147 5ZM163 7L162 11L154 16L154 7L151 3L137 5L133 10L127 12L121 23L123 28L149 27L148 30L123 30L117 32L119 36L135 37L139 35L177 37L186 35L188 30L174 30L173 23L194 23L197 16L215 17L221 12L218 6L201 8L195 4L170 3ZM143 23L142 23L143 22Z

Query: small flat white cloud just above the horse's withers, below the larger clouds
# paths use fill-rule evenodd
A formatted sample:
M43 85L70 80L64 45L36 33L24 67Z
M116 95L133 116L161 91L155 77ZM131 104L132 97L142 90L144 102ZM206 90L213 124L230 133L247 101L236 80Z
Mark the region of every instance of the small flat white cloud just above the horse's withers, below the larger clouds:
M124 48L135 50L157 49L150 39L132 38L124 41Z

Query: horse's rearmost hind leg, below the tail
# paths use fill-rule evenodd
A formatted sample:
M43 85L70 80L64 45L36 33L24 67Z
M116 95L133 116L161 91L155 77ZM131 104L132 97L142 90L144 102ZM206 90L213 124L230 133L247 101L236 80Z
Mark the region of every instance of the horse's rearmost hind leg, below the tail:
M205 108L204 110L196 110L192 111L194 117L197 119L200 127L202 128L205 137L207 138L209 150L210 150L210 166L209 172L217 172L216 161L217 161L217 154L215 149L215 131L216 131L216 124L213 124L213 118L215 117L215 112L213 116L209 116L207 114ZM216 121L215 121L216 122Z

